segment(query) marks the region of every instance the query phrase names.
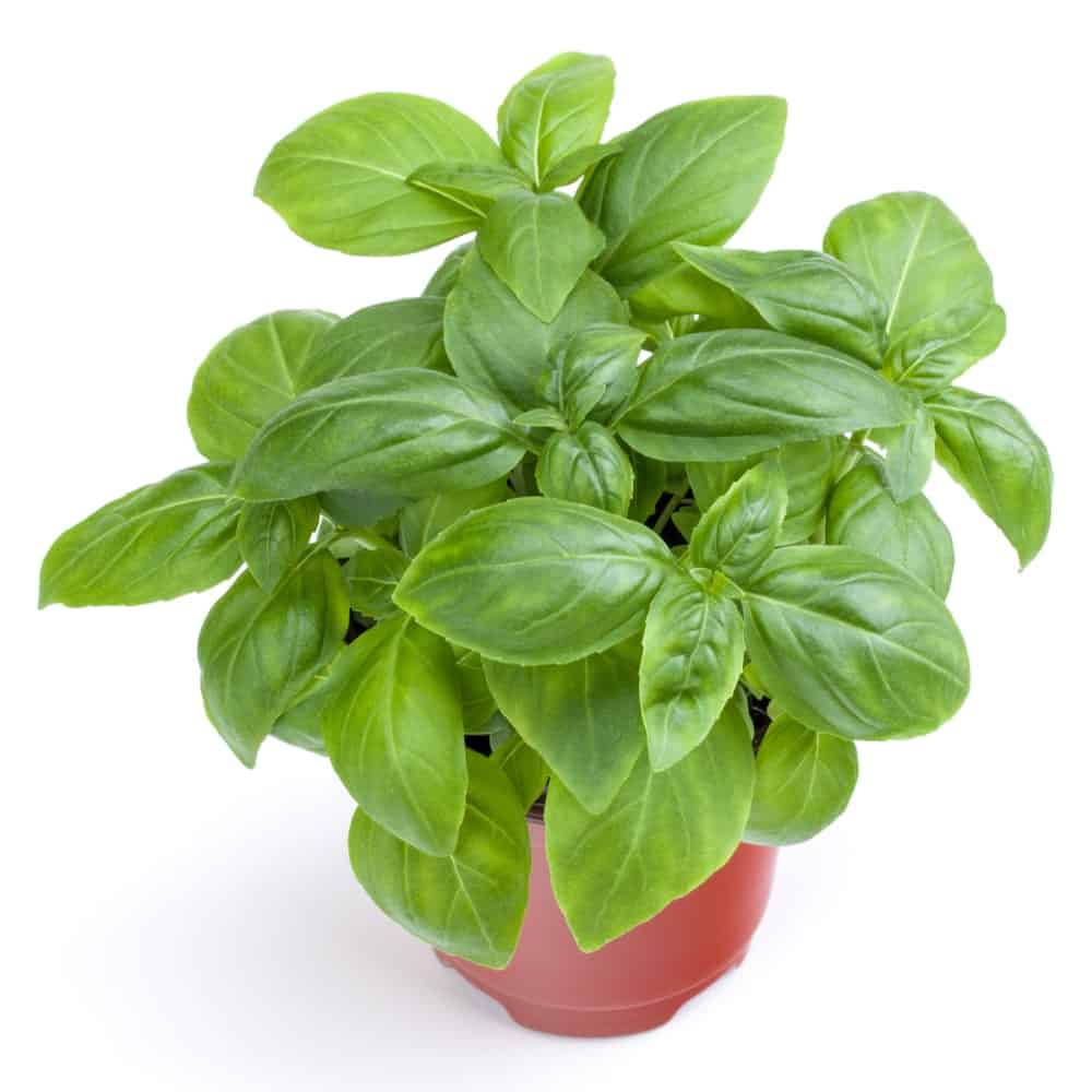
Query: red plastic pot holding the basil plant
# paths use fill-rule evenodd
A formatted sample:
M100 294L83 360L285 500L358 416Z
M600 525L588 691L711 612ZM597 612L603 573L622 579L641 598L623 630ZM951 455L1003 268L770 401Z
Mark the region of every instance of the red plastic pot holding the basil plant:
M740 845L719 871L660 914L582 952L554 898L545 828L531 827L531 895L512 962L501 971L437 952L517 1022L556 1035L627 1035L666 1023L738 966L761 921L776 850Z

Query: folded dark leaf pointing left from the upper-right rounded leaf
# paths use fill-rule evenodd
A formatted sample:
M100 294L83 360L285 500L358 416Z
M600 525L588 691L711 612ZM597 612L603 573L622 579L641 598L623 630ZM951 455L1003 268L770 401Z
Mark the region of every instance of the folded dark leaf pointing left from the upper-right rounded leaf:
M848 266L812 250L676 247L703 276L731 289L773 330L819 342L879 367L886 309Z

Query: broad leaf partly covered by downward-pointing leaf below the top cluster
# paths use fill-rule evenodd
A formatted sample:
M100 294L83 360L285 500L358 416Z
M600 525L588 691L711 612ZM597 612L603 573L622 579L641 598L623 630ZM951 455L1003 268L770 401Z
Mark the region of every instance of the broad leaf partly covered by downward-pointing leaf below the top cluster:
M625 322L626 308L594 273L584 273L553 322L531 313L483 261L463 262L448 297L443 340L455 375L496 391L514 410L538 405L535 387L554 351L593 322Z

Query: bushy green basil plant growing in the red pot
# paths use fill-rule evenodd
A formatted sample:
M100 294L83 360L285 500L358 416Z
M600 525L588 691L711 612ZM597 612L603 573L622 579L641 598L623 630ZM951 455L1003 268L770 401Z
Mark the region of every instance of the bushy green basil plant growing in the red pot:
M565 54L496 140L405 94L285 136L257 194L308 241L471 241L419 297L229 333L189 401L204 461L64 532L41 572L41 604L69 606L232 580L198 642L209 719L248 767L270 737L324 755L371 898L489 966L544 792L593 950L741 840L822 830L858 741L956 713L934 461L1021 565L1049 522L1042 441L961 383L1005 312L940 200L852 205L821 251L726 249L784 102L604 141L613 90L610 61Z

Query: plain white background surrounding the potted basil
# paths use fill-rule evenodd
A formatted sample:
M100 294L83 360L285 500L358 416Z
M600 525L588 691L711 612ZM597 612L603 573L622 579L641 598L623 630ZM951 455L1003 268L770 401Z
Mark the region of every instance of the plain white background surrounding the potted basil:
M1090 1087L1090 337L1079 5L35 3L0 34L4 686L0 1083L13 1090L871 1090ZM435 9L435 10L434 10ZM737 236L817 247L845 204L931 190L990 261L1010 333L969 384L1054 455L1051 541L1017 573L943 478L974 689L953 723L864 748L856 798L785 852L743 970L674 1023L518 1029L383 918L351 805L271 741L247 772L204 722L214 594L35 614L52 537L197 461L185 403L228 330L420 290L437 254L309 247L250 197L273 142L366 91L489 126L562 49L610 54L610 132L717 94L790 100ZM1082 507L1084 506L1084 507Z

